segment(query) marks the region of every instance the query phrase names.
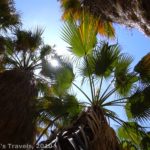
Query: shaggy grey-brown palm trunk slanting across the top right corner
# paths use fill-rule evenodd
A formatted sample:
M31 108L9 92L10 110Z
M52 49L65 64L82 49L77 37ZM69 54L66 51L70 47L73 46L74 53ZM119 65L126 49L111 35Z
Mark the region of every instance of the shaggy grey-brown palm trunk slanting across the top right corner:
M150 36L149 0L82 0L82 2L101 19L138 28Z

